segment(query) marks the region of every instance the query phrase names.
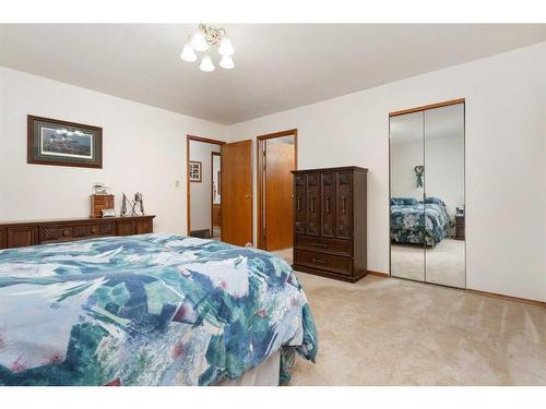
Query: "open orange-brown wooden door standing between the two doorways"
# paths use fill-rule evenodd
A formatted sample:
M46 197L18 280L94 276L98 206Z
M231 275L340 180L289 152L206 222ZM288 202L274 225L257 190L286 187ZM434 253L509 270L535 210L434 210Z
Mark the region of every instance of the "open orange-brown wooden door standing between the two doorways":
M252 243L252 141L222 145L222 241Z

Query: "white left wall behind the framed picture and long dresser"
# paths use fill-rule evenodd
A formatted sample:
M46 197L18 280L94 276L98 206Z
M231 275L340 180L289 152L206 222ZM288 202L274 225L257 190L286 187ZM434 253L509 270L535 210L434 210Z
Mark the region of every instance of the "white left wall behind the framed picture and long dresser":
M103 128L103 169L26 164L26 116ZM186 135L225 139L212 122L0 68L0 220L88 217L96 181L143 192L155 230L186 233ZM179 180L179 188L175 181Z

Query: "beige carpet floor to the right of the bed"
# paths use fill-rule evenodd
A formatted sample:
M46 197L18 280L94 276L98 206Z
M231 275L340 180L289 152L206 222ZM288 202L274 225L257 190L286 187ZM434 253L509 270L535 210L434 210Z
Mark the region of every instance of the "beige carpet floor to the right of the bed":
M316 364L297 358L290 385L546 385L544 308L396 278L297 274L319 353Z

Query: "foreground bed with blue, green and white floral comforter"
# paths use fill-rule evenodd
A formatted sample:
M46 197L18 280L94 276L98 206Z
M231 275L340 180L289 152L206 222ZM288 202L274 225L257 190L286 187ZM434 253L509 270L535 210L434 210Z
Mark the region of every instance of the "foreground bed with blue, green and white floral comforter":
M261 364L285 383L317 347L293 269L257 249L141 234L0 251L0 385L236 384Z

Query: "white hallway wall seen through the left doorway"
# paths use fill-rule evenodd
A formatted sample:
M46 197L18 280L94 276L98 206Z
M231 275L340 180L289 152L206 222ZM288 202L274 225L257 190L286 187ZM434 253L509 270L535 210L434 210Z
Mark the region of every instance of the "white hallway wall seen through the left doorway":
M190 182L190 228L211 228L211 154L219 152L219 145L190 141L190 160L201 163L201 182Z

